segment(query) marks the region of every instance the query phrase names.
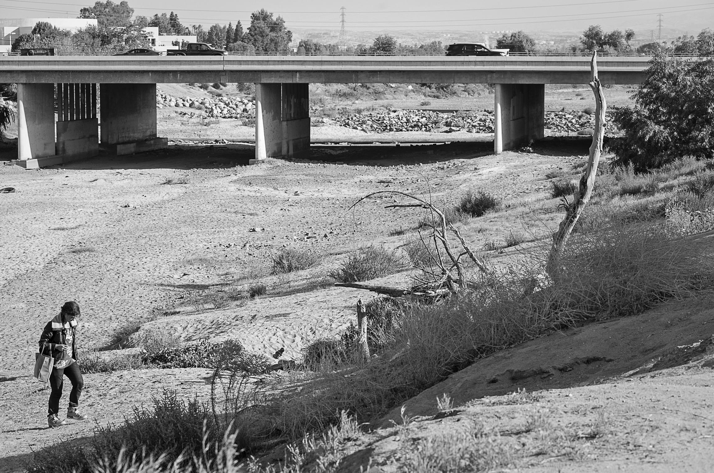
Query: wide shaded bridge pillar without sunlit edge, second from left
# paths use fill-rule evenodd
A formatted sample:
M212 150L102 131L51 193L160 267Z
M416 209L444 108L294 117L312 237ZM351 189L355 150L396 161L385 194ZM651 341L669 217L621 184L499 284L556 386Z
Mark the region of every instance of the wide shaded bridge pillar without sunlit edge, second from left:
M155 83L103 83L99 91L103 148L119 156L168 146L156 136Z

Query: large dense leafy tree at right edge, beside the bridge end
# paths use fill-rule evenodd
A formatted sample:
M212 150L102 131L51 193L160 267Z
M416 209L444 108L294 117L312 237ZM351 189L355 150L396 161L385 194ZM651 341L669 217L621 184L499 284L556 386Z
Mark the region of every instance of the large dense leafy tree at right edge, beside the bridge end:
M615 163L642 171L685 156L714 158L713 90L714 59L656 53L633 93L635 106L613 111L624 132L610 142Z

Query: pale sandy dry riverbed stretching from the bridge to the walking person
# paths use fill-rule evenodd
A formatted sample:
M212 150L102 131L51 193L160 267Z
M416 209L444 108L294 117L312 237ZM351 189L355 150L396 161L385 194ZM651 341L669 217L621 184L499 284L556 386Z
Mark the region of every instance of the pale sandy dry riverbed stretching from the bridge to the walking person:
M0 343L6 353L0 387L3 407L12 412L1 438L13 446L1 455L26 458L44 444L44 434L33 429L44 425L48 393L38 391L28 374L41 327L64 301L81 305L79 342L85 348L105 345L128 320L178 307L188 312L160 317L141 330L155 328L186 341L235 339L266 355L285 347L287 357L297 357L306 342L342 330L354 317L357 298L366 296L326 287L326 273L359 245L403 244L406 237L391 230L411 228L419 218L383 208L393 203L391 196L351 210L359 197L392 189L425 195L431 189L434 198L443 198L472 187L502 197L544 194L545 174L570 166L587 146L557 145L550 156L490 156L490 143L316 146L311 158L321 163L270 160L249 167L243 164L253 155L251 146L171 146L62 168L0 166L0 186L16 188L0 194L0 225L9 229L0 241ZM162 184L168 178L186 183ZM283 246L314 248L326 259L290 280L263 278L268 295L243 307L191 309L195 293L244 288L246 275L267 270L271 254ZM89 250L73 252L78 248ZM407 275L387 279L403 283ZM171 387L146 381L163 372L119 375L87 376L83 404L100 423L121 422L132 402L148 402ZM132 401L129 394L139 385ZM190 394L188 388L181 392ZM96 404L98 399L109 404ZM81 437L89 427L63 432Z

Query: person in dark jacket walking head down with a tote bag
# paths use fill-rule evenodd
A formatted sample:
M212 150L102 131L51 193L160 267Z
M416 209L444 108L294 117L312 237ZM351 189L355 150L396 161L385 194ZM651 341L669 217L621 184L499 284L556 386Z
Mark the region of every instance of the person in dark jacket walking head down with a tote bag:
M54 358L54 367L49 376L51 393L49 395L49 410L47 424L50 427L64 425L64 419L59 418L59 400L62 397L64 376L72 383L69 393L67 419L85 420L86 414L79 410L79 397L82 394L84 380L79 371L76 350L76 326L79 318L79 304L65 302L62 309L52 320L47 322L39 340L40 352Z

